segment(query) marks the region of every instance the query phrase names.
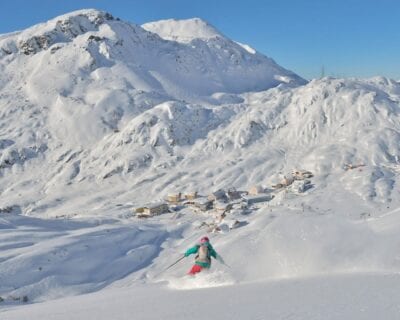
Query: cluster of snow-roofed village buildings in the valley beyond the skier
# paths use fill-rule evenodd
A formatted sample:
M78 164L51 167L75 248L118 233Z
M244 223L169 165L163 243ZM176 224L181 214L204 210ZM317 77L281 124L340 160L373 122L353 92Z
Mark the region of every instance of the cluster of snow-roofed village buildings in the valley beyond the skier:
M293 170L291 174L285 175L280 183L270 188L253 186L248 191L239 191L236 188L219 189L208 196L199 195L197 191L170 193L165 201L135 208L134 213L138 218L148 218L190 208L193 212L209 212L214 217L214 221L203 223L209 227L208 231L221 231L223 221L227 228L232 229L239 226L240 221L230 219L228 214L234 217L237 213L249 213L254 205L268 202L282 191L303 193L312 187L309 180L312 177L310 171Z

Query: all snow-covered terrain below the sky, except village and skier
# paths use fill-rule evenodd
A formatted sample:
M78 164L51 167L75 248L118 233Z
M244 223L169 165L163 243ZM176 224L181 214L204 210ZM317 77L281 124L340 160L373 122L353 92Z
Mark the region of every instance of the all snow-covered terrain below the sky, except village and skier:
M399 104L399 82L307 83L198 18L1 35L0 318L397 319ZM293 170L312 177L273 189ZM133 214L252 186L272 200L217 232L215 210ZM225 265L165 271L205 234Z

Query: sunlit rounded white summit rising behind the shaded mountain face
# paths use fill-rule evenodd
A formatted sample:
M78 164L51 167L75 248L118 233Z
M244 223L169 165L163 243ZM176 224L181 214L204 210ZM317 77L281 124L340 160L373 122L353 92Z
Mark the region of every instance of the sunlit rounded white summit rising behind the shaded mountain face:
M208 40L224 37L215 27L201 18L192 19L167 19L145 23L142 28L158 34L165 40L188 43L193 39Z

